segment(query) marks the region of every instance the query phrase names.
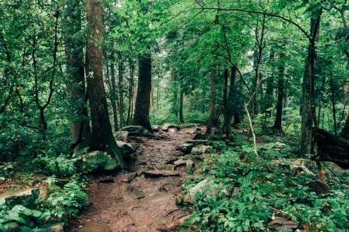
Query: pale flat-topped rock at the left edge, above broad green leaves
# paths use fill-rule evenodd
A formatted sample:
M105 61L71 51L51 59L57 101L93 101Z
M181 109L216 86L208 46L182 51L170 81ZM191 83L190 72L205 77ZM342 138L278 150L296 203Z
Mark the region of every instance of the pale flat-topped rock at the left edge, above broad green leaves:
M31 208L40 194L39 189L20 189L12 193L4 193L0 195L0 199L6 201L8 208L13 208L15 205L23 205Z

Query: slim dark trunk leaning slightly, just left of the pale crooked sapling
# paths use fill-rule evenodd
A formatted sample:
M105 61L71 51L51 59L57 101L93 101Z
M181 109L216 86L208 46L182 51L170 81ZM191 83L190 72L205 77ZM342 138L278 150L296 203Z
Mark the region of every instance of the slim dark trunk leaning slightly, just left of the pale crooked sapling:
M227 101L227 107L226 107L226 113L223 121L222 130L225 132L225 134L228 136L230 133L230 130L232 129L232 115L235 110L235 79L236 79L236 72L237 69L234 67L231 68L230 73L230 87L229 87L229 94ZM227 73L228 74L228 73Z

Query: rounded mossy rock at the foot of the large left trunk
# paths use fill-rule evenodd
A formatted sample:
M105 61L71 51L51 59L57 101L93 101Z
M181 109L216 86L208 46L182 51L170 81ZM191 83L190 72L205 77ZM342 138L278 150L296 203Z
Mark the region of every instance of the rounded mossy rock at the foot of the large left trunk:
M82 154L72 159L75 167L82 171L113 171L119 168L117 159L107 154L107 152L94 151Z

